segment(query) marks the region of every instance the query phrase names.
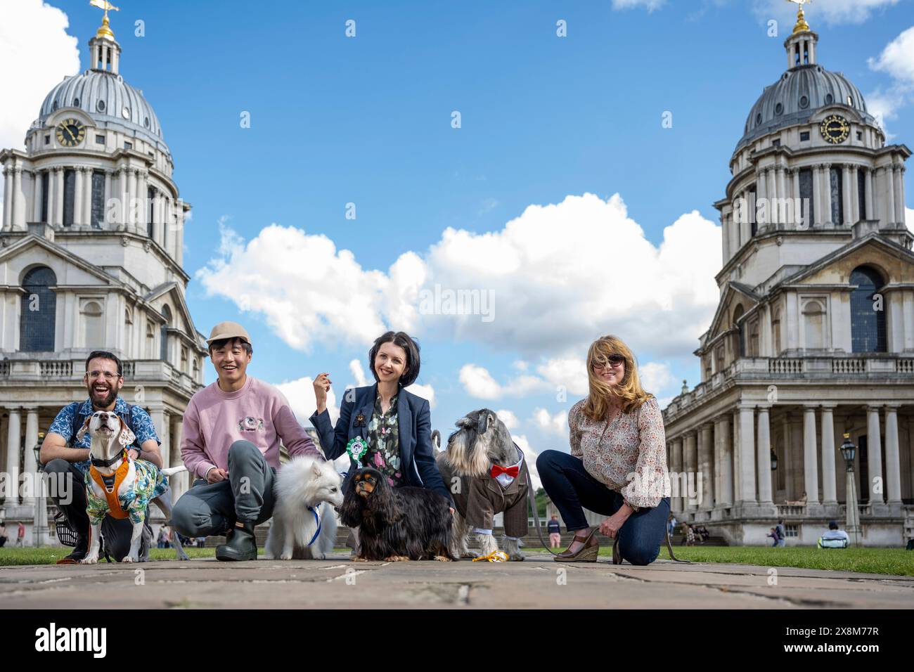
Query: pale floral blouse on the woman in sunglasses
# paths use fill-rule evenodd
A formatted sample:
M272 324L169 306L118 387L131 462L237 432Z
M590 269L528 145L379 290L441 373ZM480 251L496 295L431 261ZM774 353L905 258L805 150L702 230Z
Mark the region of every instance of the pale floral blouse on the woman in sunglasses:
M608 426L584 415L586 401L569 411L571 454L632 507L656 507L670 496L664 417L657 400L652 397L637 411L619 413Z

